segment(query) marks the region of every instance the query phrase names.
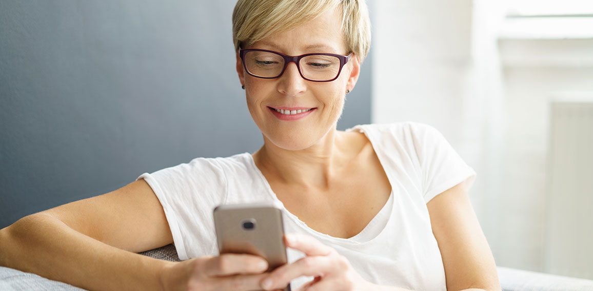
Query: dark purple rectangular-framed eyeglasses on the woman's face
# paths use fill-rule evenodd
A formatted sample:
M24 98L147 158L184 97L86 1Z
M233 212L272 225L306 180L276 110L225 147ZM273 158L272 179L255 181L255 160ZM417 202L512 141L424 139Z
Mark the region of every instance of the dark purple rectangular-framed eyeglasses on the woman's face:
M245 71L251 76L275 79L282 76L288 63L297 64L298 72L307 81L330 82L337 79L352 53L347 56L333 53L307 53L300 56L287 56L273 50L242 49L239 56Z

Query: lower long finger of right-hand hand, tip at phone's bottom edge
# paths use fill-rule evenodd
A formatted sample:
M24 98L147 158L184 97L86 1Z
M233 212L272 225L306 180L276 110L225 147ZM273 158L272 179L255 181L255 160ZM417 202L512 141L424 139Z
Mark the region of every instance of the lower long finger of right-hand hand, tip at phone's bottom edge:
M266 279L262 280L262 288L265 290L282 288L301 276L323 276L331 268L333 263L330 257L304 257L273 270Z

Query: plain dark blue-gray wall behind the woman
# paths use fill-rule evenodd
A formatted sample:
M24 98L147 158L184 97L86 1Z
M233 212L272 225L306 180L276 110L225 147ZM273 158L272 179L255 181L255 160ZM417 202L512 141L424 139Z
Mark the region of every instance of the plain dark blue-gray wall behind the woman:
M233 0L0 0L0 228L262 136L235 73ZM339 129L371 120L371 61Z

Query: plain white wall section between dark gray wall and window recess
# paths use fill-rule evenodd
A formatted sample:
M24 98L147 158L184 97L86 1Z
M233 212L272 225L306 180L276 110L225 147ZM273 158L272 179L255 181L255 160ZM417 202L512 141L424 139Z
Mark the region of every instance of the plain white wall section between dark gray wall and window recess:
M471 200L484 222L484 111L471 91L474 65L471 0L380 1L374 12L372 121L418 121L440 130L479 177ZM480 97L482 98L482 97ZM468 107L479 108L468 110ZM464 126L471 124L472 126ZM474 146L474 145L479 146Z

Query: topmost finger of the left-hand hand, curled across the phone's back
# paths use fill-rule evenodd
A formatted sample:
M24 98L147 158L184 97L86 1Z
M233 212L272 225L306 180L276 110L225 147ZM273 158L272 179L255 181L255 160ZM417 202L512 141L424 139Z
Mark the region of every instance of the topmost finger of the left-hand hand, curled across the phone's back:
M267 261L256 255L222 254L212 257L205 264L207 276L234 274L259 274L267 270Z

